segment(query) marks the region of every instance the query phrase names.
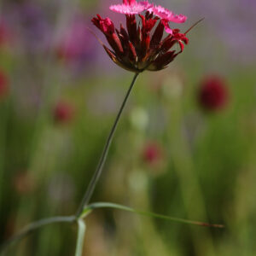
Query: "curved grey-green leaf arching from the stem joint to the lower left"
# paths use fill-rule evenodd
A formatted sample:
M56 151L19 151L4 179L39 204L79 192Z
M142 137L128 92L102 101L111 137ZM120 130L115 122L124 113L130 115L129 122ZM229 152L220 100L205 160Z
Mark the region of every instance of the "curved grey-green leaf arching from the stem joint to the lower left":
M8 241L5 241L3 245L1 245L0 253L3 253L10 244L14 243L15 241L19 241L20 239L24 238L25 236L31 234L33 231L38 230L45 225L63 222L72 223L73 221L75 221L75 219L75 216L57 216L52 218L43 218L41 220L28 224L23 230L20 230L17 235L11 237Z

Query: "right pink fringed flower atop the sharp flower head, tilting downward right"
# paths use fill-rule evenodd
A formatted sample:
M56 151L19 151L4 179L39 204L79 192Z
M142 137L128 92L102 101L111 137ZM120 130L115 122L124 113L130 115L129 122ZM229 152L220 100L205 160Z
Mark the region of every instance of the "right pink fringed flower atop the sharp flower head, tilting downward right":
M183 23L187 20L187 17L184 15L175 15L172 13L171 10L166 9L164 7L154 6L153 8L148 9L148 11L151 11L154 13L154 15L160 17L160 19L172 21L175 23Z

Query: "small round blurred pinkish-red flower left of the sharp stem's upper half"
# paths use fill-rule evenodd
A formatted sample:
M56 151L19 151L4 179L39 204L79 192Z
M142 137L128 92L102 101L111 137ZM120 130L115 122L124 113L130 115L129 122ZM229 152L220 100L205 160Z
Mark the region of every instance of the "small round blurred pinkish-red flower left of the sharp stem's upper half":
M58 123L66 123L73 118L73 106L67 102L58 102L54 109L54 118Z

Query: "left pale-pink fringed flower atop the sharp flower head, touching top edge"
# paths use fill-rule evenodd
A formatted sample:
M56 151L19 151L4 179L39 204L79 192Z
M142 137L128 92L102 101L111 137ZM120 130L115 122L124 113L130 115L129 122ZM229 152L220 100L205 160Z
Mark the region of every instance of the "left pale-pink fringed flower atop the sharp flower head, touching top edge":
M119 14L124 15L137 15L139 13L142 13L146 9L152 8L152 4L148 2L140 2L137 3L136 1L129 1L129 5L127 4L116 4L111 5L109 9L113 10L114 12L117 12Z

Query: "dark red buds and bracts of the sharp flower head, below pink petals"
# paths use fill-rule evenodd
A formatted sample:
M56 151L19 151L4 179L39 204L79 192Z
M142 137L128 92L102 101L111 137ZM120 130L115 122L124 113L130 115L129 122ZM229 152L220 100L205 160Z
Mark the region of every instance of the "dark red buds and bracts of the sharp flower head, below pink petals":
M184 44L189 43L186 34L178 29L173 29L172 34L163 38L165 21L153 13L147 11L145 15L139 15L141 20L138 26L135 15L125 16L127 30L122 25L116 29L112 20L102 19L100 15L91 21L107 38L112 49L105 44L102 46L109 57L126 70L141 73L166 68L183 52ZM175 44L179 47L174 49Z

